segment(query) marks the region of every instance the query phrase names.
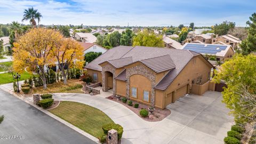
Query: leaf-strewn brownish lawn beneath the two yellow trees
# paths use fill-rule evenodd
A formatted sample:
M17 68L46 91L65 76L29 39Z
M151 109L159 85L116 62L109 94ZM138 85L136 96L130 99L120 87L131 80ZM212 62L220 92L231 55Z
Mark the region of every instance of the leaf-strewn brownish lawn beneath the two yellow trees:
M81 91L83 85L79 84L78 79L70 79L67 83L67 85L63 82L47 84L46 90L43 89L43 86L34 87L33 93L84 93Z

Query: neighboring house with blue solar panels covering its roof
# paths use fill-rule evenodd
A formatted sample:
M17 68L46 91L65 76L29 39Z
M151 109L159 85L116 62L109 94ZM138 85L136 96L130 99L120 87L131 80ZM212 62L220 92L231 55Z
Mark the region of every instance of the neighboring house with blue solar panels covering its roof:
M183 50L190 50L201 54L216 55L217 61L224 61L234 55L234 50L231 45L218 44L199 44L186 43L182 47Z

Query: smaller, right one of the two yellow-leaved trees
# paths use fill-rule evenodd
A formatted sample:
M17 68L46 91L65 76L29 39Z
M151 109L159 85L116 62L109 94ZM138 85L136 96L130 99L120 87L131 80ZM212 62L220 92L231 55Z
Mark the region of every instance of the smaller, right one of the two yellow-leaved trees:
M67 76L70 68L83 68L83 47L74 39L62 39L61 45L53 47L50 55L58 61L64 84L67 84Z

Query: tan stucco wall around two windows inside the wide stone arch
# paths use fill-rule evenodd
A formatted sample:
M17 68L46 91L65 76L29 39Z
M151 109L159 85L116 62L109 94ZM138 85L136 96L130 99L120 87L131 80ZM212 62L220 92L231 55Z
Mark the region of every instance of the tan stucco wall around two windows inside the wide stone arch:
M137 87L137 98L131 97L132 95L132 87ZM149 91L151 94L151 82L149 79L142 75L132 75L130 77L130 99L146 103L147 105L150 105L150 94L149 94L149 101L143 101L143 91Z

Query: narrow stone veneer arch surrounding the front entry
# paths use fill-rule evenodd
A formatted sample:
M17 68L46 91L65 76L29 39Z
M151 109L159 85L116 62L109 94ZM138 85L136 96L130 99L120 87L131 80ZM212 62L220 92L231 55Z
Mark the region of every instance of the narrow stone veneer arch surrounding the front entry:
M116 70L116 68L114 68L112 65L110 65L110 64L107 64L107 65L105 65L105 66L103 66L102 67L102 91L103 92L106 92L106 91L108 91L108 87L106 86L106 84L105 84L105 80L106 80L106 78L105 78L105 72L106 71L109 71L110 73L112 73L113 74L113 94L114 95L116 95L116 79L115 79L115 77L116 77L116 73L115 73L115 70Z

